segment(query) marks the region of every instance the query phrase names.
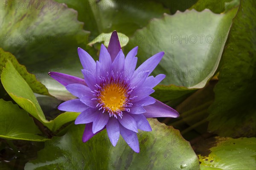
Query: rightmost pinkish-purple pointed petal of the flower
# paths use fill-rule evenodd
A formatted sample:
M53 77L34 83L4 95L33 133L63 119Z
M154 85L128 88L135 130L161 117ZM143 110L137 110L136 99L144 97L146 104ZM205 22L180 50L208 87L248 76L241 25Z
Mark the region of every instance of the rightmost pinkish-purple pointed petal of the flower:
M144 107L147 111L143 113L146 118L152 117L178 117L180 116L177 111L173 108L163 104L162 102L156 99L156 102L153 105L148 105Z

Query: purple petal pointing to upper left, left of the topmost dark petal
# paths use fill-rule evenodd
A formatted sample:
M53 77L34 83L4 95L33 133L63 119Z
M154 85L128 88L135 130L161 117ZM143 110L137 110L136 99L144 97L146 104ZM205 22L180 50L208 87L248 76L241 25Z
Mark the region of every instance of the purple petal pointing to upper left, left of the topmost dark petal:
M88 54L86 51L84 51L82 48L77 49L81 64L84 69L95 69L96 68L96 62L94 59Z

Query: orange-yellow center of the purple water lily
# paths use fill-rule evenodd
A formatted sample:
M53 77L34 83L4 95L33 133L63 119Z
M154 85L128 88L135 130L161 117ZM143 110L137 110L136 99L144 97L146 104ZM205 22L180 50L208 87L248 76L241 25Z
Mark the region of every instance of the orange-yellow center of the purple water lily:
M112 113L124 111L127 101L127 90L118 83L105 85L100 92L100 101L106 111Z

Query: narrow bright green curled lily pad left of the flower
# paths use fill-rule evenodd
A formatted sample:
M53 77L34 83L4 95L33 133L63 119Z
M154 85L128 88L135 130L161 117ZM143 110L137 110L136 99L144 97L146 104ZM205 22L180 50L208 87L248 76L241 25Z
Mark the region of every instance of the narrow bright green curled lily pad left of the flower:
M1 74L1 82L6 92L21 108L34 116L53 132L58 130L58 128L65 123L75 120L79 115L79 113L65 112L57 116L54 120L48 121L45 118L41 106L33 94L32 89L14 68L12 62L7 61L6 66L3 69L7 71L3 71Z

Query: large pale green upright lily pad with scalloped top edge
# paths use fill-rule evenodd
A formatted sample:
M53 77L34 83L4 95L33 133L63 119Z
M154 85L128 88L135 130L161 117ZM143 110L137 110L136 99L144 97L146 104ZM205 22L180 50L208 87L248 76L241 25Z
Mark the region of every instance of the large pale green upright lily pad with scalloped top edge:
M126 47L139 45L138 62L164 51L165 55L153 75L166 74L163 85L203 88L218 68L225 38L237 9L225 14L209 10L164 14L147 27L135 32Z

